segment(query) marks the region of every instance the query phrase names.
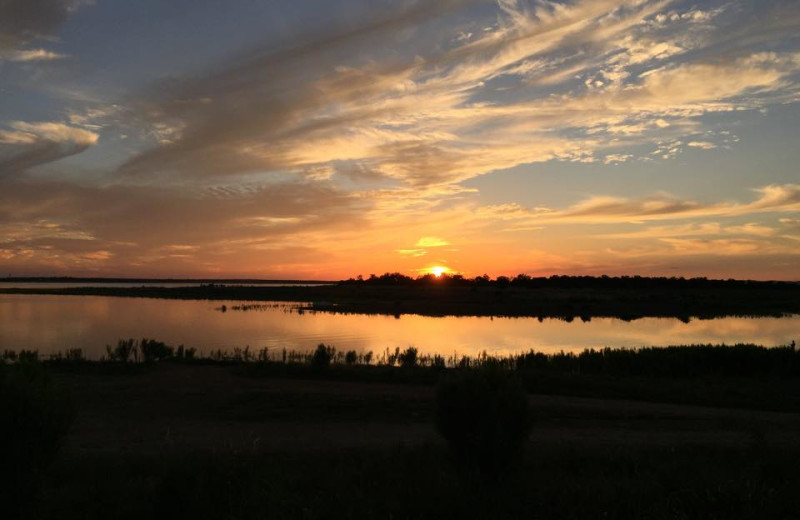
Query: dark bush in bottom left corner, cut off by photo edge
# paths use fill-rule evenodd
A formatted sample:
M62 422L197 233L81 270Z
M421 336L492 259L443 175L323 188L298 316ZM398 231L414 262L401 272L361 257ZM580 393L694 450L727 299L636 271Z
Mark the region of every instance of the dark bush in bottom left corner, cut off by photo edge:
M68 397L36 362L0 364L0 510L32 516L44 472L73 419Z

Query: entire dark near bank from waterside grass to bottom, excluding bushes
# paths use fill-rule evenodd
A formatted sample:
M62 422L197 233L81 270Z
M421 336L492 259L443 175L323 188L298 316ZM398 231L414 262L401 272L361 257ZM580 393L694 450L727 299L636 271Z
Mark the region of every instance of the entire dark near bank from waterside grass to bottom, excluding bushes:
M259 362L120 343L127 361L72 352L37 362L27 352L0 365L2 381L31 376L26 409L40 412L20 410L25 428L61 431L53 419L65 399L74 413L66 436L48 441L60 450L31 475L35 498L19 518L727 519L800 510L800 413L787 404L798 395L797 353L788 347L529 353L443 367L408 351L367 365L325 346L304 360ZM549 392L528 395L525 449L491 477L466 471L434 426L440 378L486 370ZM785 385L781 413L763 411L776 408L772 385ZM733 402L752 406L686 406L681 387L695 404L716 396L726 405L743 388ZM664 403L646 401L653 389ZM482 395L457 405L465 426ZM17 435L6 456L25 453L30 436L4 431Z

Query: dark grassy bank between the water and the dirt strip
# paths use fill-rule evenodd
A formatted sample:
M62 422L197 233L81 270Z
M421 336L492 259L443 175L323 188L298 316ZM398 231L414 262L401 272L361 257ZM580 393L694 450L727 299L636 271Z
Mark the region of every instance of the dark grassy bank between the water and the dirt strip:
M6 351L7 362L38 359ZM588 349L581 353L524 352L495 357L421 355L414 348L372 352L212 351L173 348L155 340L120 340L101 361L80 350L43 363L56 373L136 375L155 364L218 366L249 378L289 378L369 384L433 386L442 373L500 366L533 394L800 411L800 350L793 345L687 345L643 349Z

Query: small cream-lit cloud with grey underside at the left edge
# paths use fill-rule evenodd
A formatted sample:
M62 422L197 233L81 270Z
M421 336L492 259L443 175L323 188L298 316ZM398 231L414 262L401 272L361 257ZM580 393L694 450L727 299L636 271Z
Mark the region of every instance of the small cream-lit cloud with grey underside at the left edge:
M75 155L97 143L95 132L57 122L13 121L0 130L0 179ZM5 148L5 149L4 149Z

